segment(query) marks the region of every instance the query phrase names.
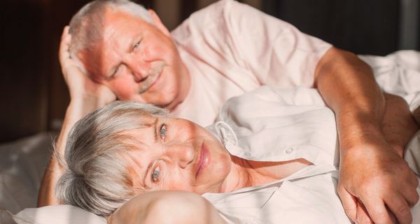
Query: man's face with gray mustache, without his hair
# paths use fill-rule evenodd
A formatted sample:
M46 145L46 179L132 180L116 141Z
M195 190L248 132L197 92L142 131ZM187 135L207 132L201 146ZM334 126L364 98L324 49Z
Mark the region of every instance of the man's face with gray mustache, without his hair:
M80 50L78 57L118 99L170 109L185 97L190 77L169 31L157 16L152 18L158 25L121 10L106 10L102 40L89 51L92 54Z

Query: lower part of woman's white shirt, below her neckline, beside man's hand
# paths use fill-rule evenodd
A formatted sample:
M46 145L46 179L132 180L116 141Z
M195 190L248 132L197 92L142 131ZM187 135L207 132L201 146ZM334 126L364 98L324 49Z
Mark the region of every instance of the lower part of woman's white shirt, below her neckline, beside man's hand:
M337 174L312 165L265 186L202 196L227 223L351 223L335 193Z

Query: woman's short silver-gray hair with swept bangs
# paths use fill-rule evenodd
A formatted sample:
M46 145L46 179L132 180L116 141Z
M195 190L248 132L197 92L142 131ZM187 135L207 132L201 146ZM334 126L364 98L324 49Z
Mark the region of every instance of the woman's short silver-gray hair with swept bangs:
M64 173L55 186L59 201L109 216L134 197L127 151L138 147L127 132L150 127L146 117L167 114L148 104L113 102L79 120L69 133Z

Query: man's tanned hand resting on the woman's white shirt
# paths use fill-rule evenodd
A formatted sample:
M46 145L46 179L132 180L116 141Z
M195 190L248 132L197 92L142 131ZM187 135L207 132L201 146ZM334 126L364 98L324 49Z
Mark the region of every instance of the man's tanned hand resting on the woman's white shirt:
M407 162L386 141L342 154L338 194L356 223L411 223L409 208L419 200L417 185Z

